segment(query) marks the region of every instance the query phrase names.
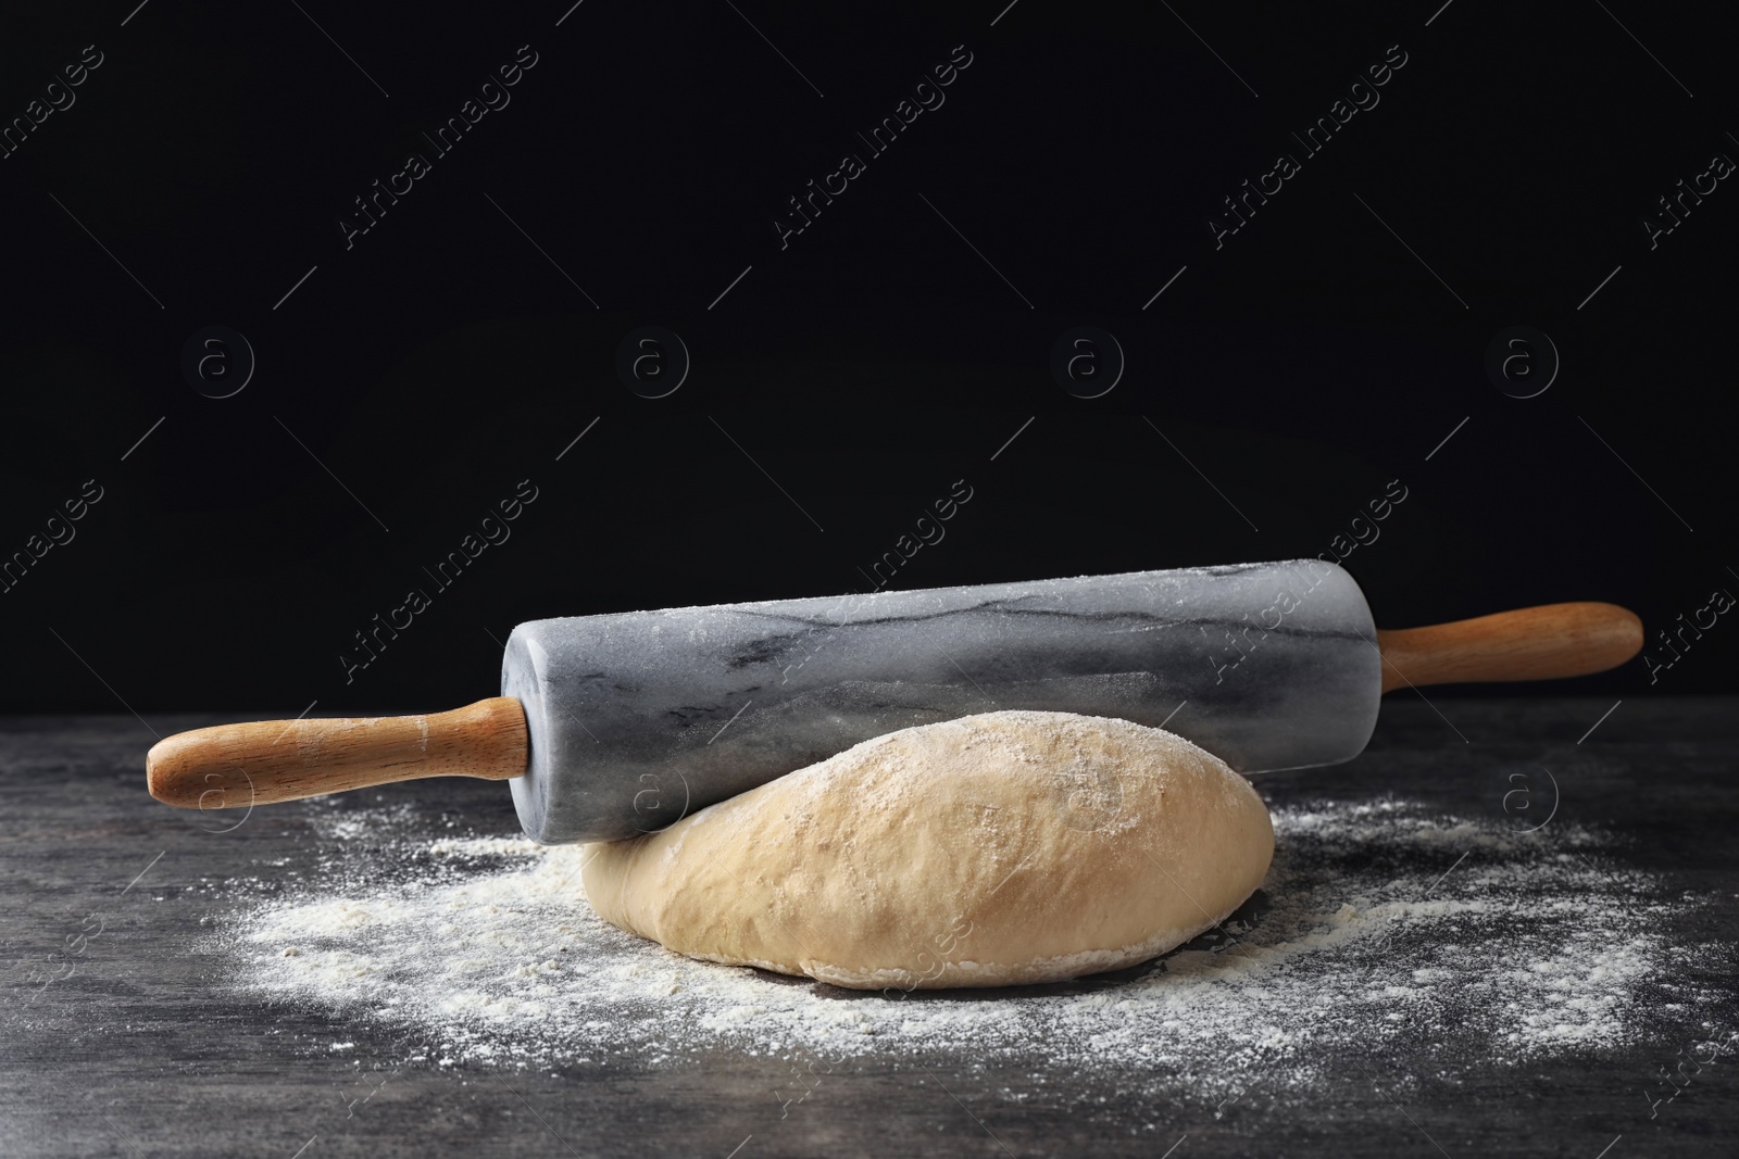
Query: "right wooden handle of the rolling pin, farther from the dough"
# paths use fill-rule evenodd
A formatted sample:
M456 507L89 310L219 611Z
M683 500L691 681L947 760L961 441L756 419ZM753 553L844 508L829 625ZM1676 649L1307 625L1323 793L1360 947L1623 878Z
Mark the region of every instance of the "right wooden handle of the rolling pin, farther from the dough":
M1548 603L1473 620L1379 631L1383 692L1407 685L1555 679L1642 652L1642 620L1612 603Z

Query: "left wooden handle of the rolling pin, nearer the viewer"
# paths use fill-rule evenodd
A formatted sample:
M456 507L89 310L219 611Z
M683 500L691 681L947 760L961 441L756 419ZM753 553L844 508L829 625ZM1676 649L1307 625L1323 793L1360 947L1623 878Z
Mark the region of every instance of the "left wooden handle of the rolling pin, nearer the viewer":
M417 777L506 780L525 772L525 709L492 697L433 716L249 721L151 745L151 796L177 808L245 808Z

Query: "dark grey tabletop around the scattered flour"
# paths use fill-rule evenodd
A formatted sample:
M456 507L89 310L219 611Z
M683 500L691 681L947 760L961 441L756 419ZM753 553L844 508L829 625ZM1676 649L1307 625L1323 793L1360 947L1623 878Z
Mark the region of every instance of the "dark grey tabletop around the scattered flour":
M1640 1041L1523 1067L1445 1060L1403 1029L1325 1065L1306 1096L1257 1088L1221 1109L1186 1089L1155 1098L1127 1069L1059 1063L1042 1041L1014 1060L981 1058L969 1041L849 1060L800 1107L769 1095L788 1060L730 1050L532 1070L407 1062L402 1034L249 997L224 959L197 949L214 923L259 902L259 883L306 881L341 841L313 824L313 806L263 808L219 832L212 815L146 796L153 735L139 719L0 719L0 1154L1739 1154L1739 1051L1699 1067L1669 1103L1649 1100L1666 1089L1662 1063L1711 1036L1711 1008L1715 1030L1739 1030L1739 699L1638 695L1609 709L1389 697L1356 761L1257 784L1271 806L1405 794L1502 818L1513 772L1549 768L1556 824L1598 827L1617 865L1643 871L1671 911L1664 921L1683 926L1676 944L1699 947L1671 970L1713 1006L1662 1006ZM150 726L167 735L219 719L242 718ZM369 796L430 834L516 834L497 784ZM1671 909L1692 895L1696 907ZM393 1062L365 1102L334 1096L355 1079L329 1050L334 1032Z

